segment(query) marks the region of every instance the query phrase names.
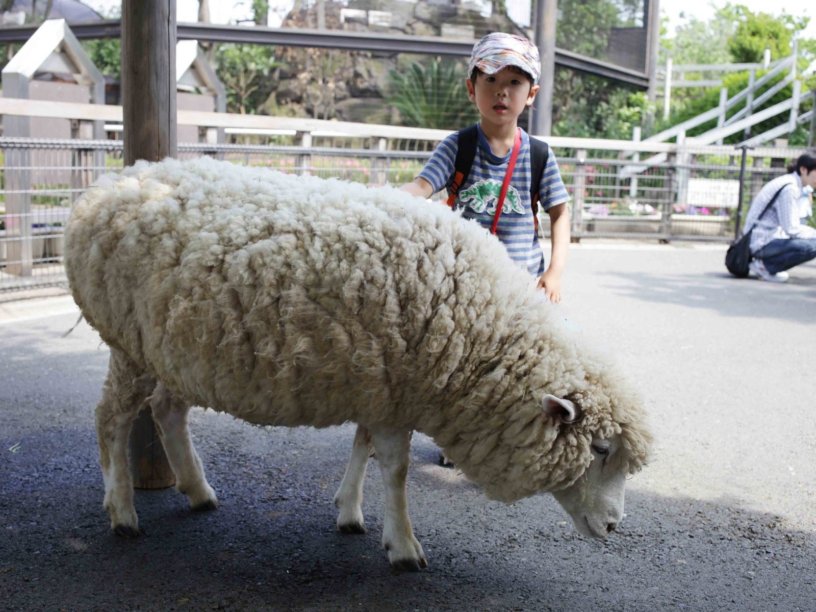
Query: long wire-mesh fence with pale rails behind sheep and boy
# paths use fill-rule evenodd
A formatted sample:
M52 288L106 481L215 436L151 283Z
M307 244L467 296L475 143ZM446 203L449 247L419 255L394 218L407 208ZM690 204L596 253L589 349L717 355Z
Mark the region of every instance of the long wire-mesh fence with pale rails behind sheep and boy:
M312 144L321 146L180 144L178 155L210 155L372 185L401 184L413 180L436 143L412 137L322 137ZM726 242L734 237L739 150L669 144L640 150L637 143L564 138L552 138L550 144L573 199L575 238ZM667 150L666 161L639 161L641 153L654 153L655 147ZM62 284L63 228L71 206L98 176L122 167L122 141L0 138L0 149L0 291ZM749 151L743 203L799 154L800 149ZM642 171L632 172L633 166ZM547 237L547 215L542 221Z

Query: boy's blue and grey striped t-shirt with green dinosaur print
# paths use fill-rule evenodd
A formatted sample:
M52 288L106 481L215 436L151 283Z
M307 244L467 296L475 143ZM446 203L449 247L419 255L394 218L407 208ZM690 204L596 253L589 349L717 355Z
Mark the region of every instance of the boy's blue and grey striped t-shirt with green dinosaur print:
M473 158L468 180L459 187L455 207L462 210L463 217L478 221L490 231L510 152L504 157L494 155L481 126L478 133L476 157ZM431 184L433 193L450 187L453 182L458 141L457 132L442 140L419 173ZM538 277L544 272L544 254L535 235L533 209L530 206L530 172L530 136L521 130L521 149L504 198L496 237L507 248L513 261ZM561 181L556 158L550 149L539 185L539 206L542 211L548 211L552 206L569 201L570 195Z

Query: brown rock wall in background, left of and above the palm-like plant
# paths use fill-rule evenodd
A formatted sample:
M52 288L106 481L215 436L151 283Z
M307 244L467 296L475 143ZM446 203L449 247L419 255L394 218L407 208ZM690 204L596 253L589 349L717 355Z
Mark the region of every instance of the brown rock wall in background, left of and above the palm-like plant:
M504 31L529 35L507 16L493 11L489 17L472 10L473 5L403 2L401 0L350 0L325 2L326 29L379 32L414 36L443 36L472 40L485 33ZM316 29L317 7L295 7L283 27ZM286 67L270 76L275 84L262 113L295 117L339 119L369 123L400 123L399 113L388 104L388 73L428 56L343 51L303 47L279 47L276 55ZM453 61L453 59L450 59ZM462 77L466 76L465 59Z

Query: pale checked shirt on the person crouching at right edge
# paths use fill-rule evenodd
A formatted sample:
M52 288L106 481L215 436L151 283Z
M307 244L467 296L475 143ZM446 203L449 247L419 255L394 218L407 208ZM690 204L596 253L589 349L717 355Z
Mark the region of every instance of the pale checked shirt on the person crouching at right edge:
M756 194L754 201L751 203L751 208L748 209L743 233L751 229L756 222L756 218L761 215L762 211L765 210L765 206L770 202L770 198L774 197L774 193L780 188L783 188L783 190L776 198L774 206L769 208L765 216L754 227L754 232L751 234L752 253L756 253L772 240L816 238L816 229L802 225L799 222L799 201L803 194L802 180L796 172L778 176L760 189L760 193Z

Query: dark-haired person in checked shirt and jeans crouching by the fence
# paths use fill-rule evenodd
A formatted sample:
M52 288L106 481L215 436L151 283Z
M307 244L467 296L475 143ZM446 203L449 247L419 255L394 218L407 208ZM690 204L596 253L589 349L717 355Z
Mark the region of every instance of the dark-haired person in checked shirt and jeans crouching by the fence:
M787 269L816 258L816 229L800 223L802 198L809 197L816 187L816 150L788 164L787 172L756 194L743 228L744 232L753 228L754 259L748 268L770 282L786 282ZM757 220L777 193L773 206Z

